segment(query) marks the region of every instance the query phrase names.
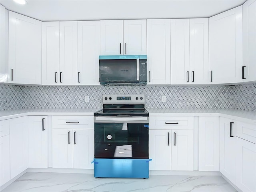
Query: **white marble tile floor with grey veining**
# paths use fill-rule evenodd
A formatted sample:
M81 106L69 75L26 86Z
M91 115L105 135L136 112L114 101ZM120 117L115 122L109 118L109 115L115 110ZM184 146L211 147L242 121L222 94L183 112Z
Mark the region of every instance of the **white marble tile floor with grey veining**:
M94 178L93 174L27 172L2 192L236 192L221 176Z

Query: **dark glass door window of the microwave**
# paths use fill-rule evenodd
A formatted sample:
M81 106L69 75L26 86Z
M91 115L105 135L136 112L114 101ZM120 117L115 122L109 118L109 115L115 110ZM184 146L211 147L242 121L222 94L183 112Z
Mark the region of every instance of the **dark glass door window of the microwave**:
M100 81L136 81L137 60L100 60Z

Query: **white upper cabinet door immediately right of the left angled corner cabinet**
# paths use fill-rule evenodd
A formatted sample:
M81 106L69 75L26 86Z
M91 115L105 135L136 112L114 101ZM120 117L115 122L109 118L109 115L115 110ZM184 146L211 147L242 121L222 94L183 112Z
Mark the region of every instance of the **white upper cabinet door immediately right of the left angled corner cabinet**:
M59 84L60 22L42 22L42 85Z

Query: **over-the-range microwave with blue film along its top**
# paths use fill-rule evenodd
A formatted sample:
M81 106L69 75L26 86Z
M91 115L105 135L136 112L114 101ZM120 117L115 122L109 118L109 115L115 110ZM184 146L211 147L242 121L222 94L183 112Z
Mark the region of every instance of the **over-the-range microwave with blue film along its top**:
M146 55L106 55L99 59L100 84L147 84Z

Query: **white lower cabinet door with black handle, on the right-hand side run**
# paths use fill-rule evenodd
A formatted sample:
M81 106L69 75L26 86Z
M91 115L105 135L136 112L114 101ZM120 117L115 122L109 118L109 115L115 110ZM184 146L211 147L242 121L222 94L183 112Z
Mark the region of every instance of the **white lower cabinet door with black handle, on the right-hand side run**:
M220 172L236 184L236 121L220 118Z

